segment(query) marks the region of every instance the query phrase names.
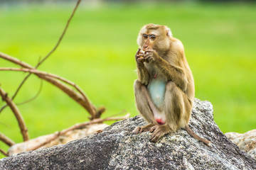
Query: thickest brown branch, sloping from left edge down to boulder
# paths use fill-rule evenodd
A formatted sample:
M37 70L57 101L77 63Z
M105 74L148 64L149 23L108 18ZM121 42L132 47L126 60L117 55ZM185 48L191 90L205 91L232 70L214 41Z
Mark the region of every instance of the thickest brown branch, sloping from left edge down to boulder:
M0 57L3 58L4 60L8 60L9 62L13 62L14 64L18 64L21 67L25 67L26 69L34 69L31 65L27 64L26 62L21 62L21 60L17 60L14 57L11 57L9 55L6 55L2 52L0 52ZM80 96L79 94L75 93L73 89L70 89L68 86L65 86L64 84L61 84L59 81L51 78L51 77L46 77L40 74L36 74L39 78L45 79L46 81L50 82L51 84L57 86L59 89L61 89L65 94L68 94L70 98L73 98L73 100L77 101L82 107L84 107L90 115L92 115L92 118L97 118L96 115L96 108L95 106L90 103L90 101L87 99L85 94Z

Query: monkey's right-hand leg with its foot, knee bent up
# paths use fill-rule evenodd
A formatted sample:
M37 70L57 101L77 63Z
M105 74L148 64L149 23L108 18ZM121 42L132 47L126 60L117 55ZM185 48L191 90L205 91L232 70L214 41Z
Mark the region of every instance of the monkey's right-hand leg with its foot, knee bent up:
M166 92L164 96L164 114L166 115L165 125L154 125L150 132L151 142L156 142L160 137L175 132L178 128L185 126L184 119L184 102L183 102L183 91L176 86L173 81L166 83Z

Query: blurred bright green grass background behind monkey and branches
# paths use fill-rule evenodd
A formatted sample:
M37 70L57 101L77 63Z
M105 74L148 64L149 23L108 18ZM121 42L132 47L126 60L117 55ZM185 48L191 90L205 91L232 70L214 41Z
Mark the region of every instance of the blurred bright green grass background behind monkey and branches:
M55 45L70 4L0 4L0 51L36 65ZM53 55L38 69L78 84L105 118L124 109L137 115L133 82L137 35L146 23L166 25L183 42L196 84L196 98L213 103L223 132L256 128L255 3L82 3ZM0 59L0 67L17 67ZM26 74L0 72L1 87L14 94ZM41 84L31 77L15 99L33 97ZM4 102L0 101L0 106ZM87 112L55 86L43 82L36 100L18 106L31 138L87 121ZM0 113L0 132L22 138L9 108ZM4 143L0 148L6 150ZM1 158L2 156L0 156Z

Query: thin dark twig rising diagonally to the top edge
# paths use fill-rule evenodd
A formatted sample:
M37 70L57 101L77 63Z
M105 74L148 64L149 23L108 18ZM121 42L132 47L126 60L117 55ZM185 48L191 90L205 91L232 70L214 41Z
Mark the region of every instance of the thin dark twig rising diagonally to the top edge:
M73 9L73 12L71 13L71 16L70 18L68 19L68 23L66 24L64 30L63 30L63 33L60 35L60 38L57 42L57 44L55 45L55 47L53 47L53 50L51 50L48 55L46 55L46 57L43 58L43 60L41 60L40 62L38 62L38 64L36 65L35 68L39 67L39 65L41 65L51 54L53 54L53 52L57 49L58 45L60 45L60 41L63 39L63 36L65 35L65 32L66 30L68 29L68 26L69 26L69 23L71 21L71 19L73 18L74 14L75 14L75 11L77 10L79 4L80 4L80 1L81 0L78 0L77 4L75 5L75 8ZM21 86L23 86L23 84L25 83L25 81L28 79L28 77L31 76L31 73L29 73L24 79L23 81L21 81L21 84L18 86L18 89L16 89L15 93L14 93L14 96L11 97L11 100L13 101L14 98L16 97L16 95L18 94L18 91L21 89ZM0 109L0 113L1 111L4 110L4 108L6 108L6 106L3 106L1 109Z

